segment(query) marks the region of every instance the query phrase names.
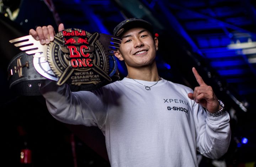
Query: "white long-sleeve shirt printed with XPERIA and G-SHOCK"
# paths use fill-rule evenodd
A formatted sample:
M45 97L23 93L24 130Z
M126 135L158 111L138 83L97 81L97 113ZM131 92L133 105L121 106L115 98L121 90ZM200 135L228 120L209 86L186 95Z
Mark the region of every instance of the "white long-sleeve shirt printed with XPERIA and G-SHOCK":
M151 86L156 82L137 80ZM98 126L112 167L198 166L196 152L216 159L228 150L229 114L208 116L190 88L161 79L145 90L124 78L94 91L50 82L40 91L55 119Z

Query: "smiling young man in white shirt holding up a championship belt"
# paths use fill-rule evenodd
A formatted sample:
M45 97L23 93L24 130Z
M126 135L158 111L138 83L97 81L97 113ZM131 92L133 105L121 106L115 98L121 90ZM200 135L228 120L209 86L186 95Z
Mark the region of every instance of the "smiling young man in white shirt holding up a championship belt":
M30 34L49 44L54 30L38 27ZM53 117L98 126L112 167L198 166L197 151L213 159L225 154L229 114L196 69L192 71L199 87L194 92L161 78L155 62L158 39L149 22L127 19L117 25L114 35L122 37L115 56L126 63L127 77L80 92L47 81L40 91Z

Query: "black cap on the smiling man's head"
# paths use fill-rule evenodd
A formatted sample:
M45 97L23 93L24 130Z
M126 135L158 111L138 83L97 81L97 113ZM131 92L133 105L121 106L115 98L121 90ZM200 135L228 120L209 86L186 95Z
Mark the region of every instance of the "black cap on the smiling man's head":
M153 26L148 21L138 18L129 18L121 23L119 23L113 30L114 36L121 36L125 31L135 28L135 27L142 27L147 30L153 35Z

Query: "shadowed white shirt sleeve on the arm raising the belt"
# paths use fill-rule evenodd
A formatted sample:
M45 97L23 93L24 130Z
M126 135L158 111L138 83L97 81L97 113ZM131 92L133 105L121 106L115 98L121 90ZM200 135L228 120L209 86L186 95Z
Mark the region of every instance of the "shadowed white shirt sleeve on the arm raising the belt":
M108 94L103 88L71 92L67 84L57 86L55 81L45 80L39 91L46 99L50 114L61 122L100 129L105 123Z

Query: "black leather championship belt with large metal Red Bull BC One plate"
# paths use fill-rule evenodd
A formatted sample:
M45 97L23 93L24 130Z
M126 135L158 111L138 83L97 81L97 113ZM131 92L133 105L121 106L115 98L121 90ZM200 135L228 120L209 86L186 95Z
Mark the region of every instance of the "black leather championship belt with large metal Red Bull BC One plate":
M69 28L59 31L49 45L31 35L10 40L21 53L8 65L10 88L25 96L40 95L41 81L50 79L71 91L94 90L120 79L114 51L121 38Z

